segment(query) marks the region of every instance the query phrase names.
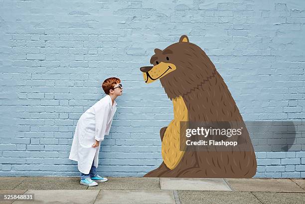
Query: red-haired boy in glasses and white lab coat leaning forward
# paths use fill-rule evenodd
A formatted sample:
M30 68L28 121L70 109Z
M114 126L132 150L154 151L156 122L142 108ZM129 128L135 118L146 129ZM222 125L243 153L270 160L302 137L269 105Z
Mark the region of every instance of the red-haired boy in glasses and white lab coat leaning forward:
M97 186L96 182L108 181L107 178L96 174L96 168L100 143L104 140L104 135L109 135L117 110L115 99L122 95L123 87L119 78L111 77L103 82L102 88L106 96L86 110L77 122L69 155L70 160L78 162L80 184L85 186Z

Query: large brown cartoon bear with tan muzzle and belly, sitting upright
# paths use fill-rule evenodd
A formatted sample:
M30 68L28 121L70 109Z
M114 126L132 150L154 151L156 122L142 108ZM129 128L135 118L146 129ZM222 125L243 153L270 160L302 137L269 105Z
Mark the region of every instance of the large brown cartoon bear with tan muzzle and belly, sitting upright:
M164 50L154 49L154 53L150 61L153 66L140 70L146 83L160 80L173 103L174 118L160 129L162 164L144 177L253 177L257 163L249 133L228 87L206 53L190 43L186 35ZM238 140L246 148L181 150L180 121L238 122L244 128L243 137Z

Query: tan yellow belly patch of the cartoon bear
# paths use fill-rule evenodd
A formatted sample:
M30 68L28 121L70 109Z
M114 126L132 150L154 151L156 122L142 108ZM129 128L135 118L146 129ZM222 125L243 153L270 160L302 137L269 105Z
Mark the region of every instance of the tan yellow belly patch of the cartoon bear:
M188 113L181 96L172 99L174 119L169 123L162 140L162 158L167 168L174 169L183 157L180 151L180 121L188 121Z

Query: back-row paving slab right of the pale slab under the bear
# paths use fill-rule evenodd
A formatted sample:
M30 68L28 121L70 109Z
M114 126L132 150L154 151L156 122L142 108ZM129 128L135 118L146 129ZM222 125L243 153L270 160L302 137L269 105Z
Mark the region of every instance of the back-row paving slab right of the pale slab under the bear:
M225 179L233 191L296 192L305 190L290 179Z

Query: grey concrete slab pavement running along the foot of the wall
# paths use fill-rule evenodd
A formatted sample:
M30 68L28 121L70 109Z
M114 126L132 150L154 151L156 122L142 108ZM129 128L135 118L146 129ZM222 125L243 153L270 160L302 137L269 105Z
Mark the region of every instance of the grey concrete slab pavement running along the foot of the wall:
M305 179L109 178L96 187L79 177L0 177L0 194L34 200L0 204L303 204Z

